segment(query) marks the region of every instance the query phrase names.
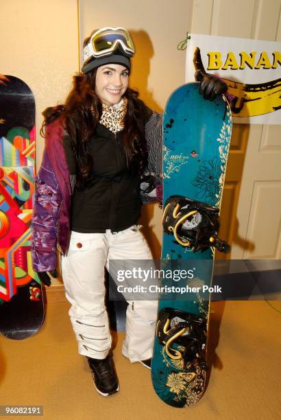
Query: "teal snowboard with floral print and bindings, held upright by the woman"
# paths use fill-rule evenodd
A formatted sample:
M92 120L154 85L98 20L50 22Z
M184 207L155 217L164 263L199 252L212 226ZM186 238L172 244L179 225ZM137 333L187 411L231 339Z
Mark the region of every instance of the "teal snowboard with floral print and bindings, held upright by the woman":
M217 220L231 130L225 97L204 100L199 83L185 84L169 97L163 121L161 268L165 273L186 270L188 276L180 281L163 276L160 285L189 289L160 294L151 377L158 396L174 407L195 404L206 386L210 292L203 292L203 286L212 281L210 245L228 252L228 244L217 237ZM198 249L193 253L194 248Z

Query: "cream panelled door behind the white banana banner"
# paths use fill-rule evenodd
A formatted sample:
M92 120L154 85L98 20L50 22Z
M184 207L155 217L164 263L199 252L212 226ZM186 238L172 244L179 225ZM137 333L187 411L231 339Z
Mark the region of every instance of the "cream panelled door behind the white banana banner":
M194 0L191 32L281 40L281 0ZM281 121L280 121L281 124ZM281 125L234 124L216 258L281 259Z

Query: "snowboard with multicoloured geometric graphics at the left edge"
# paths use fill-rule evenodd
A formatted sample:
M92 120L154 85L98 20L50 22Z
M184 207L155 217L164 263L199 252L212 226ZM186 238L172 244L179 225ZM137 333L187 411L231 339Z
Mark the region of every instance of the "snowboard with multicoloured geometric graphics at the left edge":
M35 103L27 84L0 84L0 332L21 340L38 331L44 300L32 269Z

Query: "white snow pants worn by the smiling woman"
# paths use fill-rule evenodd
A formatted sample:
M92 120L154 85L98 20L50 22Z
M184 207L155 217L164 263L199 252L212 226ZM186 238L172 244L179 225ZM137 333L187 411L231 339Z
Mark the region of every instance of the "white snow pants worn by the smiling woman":
M69 251L62 257L62 278L78 352L106 358L112 338L105 306L104 268L110 259L152 259L138 226L111 233L72 231ZM117 279L113 279L117 283ZM151 358L157 301L128 301L122 353L131 362Z

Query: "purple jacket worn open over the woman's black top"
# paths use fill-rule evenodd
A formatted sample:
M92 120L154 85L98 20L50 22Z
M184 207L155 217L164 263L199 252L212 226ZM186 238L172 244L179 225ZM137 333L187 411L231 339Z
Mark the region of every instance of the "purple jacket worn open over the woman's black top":
M47 126L45 150L36 176L32 215L32 266L36 272L54 270L56 248L66 254L70 237L71 181L63 146L64 128L60 118ZM143 203L162 200L162 116L152 113L145 125L148 148L146 175L154 186L140 185ZM150 182L150 180L149 180Z

